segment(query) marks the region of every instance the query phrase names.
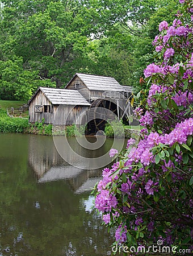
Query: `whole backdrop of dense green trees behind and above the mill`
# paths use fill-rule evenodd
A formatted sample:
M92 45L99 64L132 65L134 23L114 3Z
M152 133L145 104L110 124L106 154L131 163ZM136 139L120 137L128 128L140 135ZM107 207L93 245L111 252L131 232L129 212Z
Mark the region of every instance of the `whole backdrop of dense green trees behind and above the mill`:
M170 23L177 2L3 1L0 99L27 100L38 86L64 86L75 72L113 76L139 91L157 22Z

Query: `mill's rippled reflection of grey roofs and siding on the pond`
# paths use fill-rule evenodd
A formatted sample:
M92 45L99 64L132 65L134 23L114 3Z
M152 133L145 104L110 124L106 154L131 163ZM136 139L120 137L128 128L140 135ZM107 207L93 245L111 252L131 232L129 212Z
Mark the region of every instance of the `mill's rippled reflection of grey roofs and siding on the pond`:
M32 135L28 155L28 163L34 171L38 183L66 180L74 192L81 193L91 190L101 179L101 170L83 170L65 162L58 154L52 137L41 136L37 140L36 135ZM74 158L75 156L69 157Z

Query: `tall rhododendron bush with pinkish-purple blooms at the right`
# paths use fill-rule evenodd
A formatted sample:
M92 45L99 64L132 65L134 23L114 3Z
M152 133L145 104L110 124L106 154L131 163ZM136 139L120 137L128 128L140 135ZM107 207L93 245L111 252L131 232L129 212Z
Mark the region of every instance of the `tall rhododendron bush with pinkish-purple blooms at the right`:
M151 246L161 237L184 248L193 239L193 3L179 2L183 15L160 23L158 61L144 71L149 94L134 113L145 129L95 187L95 208L119 245Z

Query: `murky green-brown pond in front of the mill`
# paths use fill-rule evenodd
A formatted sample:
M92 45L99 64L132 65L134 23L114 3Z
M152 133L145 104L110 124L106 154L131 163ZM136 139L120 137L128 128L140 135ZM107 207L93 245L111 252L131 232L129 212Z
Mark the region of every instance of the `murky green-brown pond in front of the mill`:
M68 141L78 151L75 138ZM82 155L105 154L112 141ZM70 166L52 137L0 134L0 144L0 255L111 255L114 234L91 210L102 168Z

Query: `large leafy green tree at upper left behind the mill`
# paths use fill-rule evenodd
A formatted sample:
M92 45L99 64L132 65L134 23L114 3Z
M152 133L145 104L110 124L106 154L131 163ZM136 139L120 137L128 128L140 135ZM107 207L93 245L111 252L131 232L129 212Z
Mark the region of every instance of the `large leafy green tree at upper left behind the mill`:
M90 36L98 38L127 18L126 3L5 1L1 25L7 36L2 60L10 52L20 56L24 69L38 71L40 79L51 79L60 87L72 77L71 69L79 71L79 65L74 65L87 59Z

